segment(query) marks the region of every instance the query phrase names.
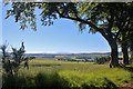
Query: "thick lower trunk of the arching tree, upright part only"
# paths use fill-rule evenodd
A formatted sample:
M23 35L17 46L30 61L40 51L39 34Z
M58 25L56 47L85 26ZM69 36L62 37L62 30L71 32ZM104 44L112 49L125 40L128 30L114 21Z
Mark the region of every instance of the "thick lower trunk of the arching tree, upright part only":
M119 66L119 60L117 60L117 57L119 57L119 53L117 53L117 44L115 42L111 42L110 43L111 46L111 65L110 67L117 67Z

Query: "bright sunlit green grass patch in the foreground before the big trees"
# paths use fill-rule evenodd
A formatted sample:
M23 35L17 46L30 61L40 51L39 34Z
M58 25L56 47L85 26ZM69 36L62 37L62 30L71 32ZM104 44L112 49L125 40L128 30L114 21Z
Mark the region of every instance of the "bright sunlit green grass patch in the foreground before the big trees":
M122 82L131 80L131 72L125 71L124 69L113 68L110 69L106 67L91 70L90 72L80 72L80 71L60 71L61 77L66 78L70 82L91 82L96 81L100 85L99 79L108 78L109 80L113 81L115 85L120 86Z

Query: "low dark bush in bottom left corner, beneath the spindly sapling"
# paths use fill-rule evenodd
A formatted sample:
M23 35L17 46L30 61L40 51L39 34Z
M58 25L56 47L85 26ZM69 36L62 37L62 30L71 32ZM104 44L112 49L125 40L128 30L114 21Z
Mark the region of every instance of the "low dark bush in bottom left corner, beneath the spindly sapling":
M3 75L2 89L35 89L32 77Z

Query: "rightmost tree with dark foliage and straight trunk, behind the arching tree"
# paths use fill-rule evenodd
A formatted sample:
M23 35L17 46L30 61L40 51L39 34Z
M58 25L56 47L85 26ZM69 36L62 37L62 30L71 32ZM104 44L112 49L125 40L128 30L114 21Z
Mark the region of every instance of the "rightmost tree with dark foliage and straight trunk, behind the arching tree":
M115 14L115 27L119 29L119 42L121 43L123 52L123 63L129 65L129 36L133 32L133 4L123 3L117 8L117 13ZM120 11L119 11L120 10Z

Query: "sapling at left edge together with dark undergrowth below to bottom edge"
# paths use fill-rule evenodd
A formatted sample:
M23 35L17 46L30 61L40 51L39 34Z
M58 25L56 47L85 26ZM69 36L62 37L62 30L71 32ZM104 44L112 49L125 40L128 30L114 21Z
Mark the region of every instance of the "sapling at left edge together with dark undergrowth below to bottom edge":
M12 47L12 52L7 51L8 44L2 44L2 89L17 89L16 77L18 77L18 70L23 61L24 46L23 42L20 49Z

